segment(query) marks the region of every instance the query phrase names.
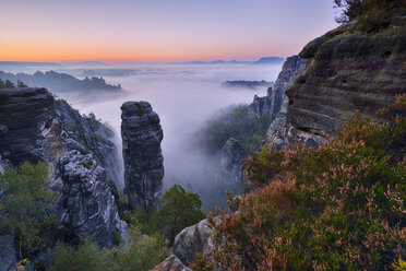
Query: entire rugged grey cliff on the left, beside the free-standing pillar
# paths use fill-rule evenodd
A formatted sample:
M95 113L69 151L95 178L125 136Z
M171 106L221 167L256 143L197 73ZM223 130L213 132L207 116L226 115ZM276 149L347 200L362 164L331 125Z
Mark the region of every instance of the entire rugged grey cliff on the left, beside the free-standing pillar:
M68 238L93 236L111 246L112 231L124 234L127 225L118 216L117 189L107 176L116 156L108 128L55 101L45 89L0 90L0 97L2 158L14 166L47 162L49 186L59 193L55 209L61 231Z

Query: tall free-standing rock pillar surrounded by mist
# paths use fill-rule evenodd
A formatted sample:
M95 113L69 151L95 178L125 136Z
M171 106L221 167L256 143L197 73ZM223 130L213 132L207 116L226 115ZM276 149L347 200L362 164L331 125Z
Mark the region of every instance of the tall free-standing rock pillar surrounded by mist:
M158 115L147 102L121 106L121 137L124 160L124 193L131 208L157 207L163 189L164 138Z

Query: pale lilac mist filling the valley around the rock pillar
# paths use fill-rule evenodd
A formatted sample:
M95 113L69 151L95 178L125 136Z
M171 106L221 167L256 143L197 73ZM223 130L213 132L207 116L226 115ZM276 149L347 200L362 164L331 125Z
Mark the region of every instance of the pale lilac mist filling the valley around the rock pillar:
M207 119L222 108L249 104L255 94L266 95L266 87L222 87L232 80L275 81L282 64L97 64L84 67L64 64L58 72L83 79L87 73L101 76L109 84L121 84L120 92L63 92L64 98L82 114L94 113L116 131L121 157L121 110L127 101L147 101L159 115L164 130L162 143L165 178L164 188L174 184L198 192L205 209L225 202L222 189L226 180L218 176L218 157L201 150L194 140ZM86 71L86 72L83 72ZM123 72L120 75L121 71ZM129 71L133 71L132 73ZM97 74L100 72L100 74ZM81 75L82 74L82 75ZM112 75L106 75L112 74ZM121 163L122 164L122 163ZM120 168L119 170L123 170ZM120 189L123 179L117 180ZM213 193L216 191L217 193ZM222 196L223 195L223 196ZM222 196L222 199L218 197Z

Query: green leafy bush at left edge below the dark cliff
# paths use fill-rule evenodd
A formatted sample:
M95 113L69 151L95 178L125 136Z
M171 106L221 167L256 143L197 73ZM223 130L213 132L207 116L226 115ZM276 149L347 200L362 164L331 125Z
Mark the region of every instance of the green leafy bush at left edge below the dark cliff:
M44 245L45 234L56 222L49 215L56 197L47 182L48 165L43 162L23 163L1 176L0 190L5 193L0 198L0 211L5 214L7 227L16 234L20 258Z

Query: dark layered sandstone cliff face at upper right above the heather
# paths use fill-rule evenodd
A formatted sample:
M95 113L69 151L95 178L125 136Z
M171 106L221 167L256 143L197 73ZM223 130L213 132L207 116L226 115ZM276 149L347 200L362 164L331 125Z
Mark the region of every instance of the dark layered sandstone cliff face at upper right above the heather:
M311 63L286 94L288 122L310 136L335 134L355 110L375 117L406 91L406 20L374 34L342 26L309 43Z

